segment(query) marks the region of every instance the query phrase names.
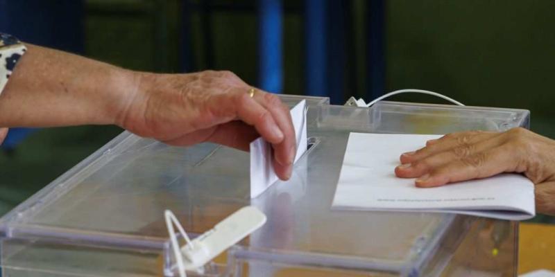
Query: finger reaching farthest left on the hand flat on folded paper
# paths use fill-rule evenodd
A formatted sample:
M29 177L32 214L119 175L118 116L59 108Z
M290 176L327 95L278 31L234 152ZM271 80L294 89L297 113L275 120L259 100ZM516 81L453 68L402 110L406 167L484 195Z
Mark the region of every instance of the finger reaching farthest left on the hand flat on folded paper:
M504 141L502 141L499 136L496 136L493 139L486 139L484 141L480 141L479 143L464 144L459 147L443 150L443 152L432 154L424 159L416 160L412 163L404 163L401 166L398 166L395 168L395 175L401 178L420 177L445 163L468 159L476 154L479 154L480 152L497 148L503 143Z

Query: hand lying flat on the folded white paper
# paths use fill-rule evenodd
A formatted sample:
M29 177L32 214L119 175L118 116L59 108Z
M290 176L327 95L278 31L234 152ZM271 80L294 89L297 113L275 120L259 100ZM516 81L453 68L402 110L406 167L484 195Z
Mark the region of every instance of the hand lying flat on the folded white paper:
M523 173L536 184L536 210L555 215L555 141L527 129L447 134L400 160L395 175L418 178L416 186L422 188Z

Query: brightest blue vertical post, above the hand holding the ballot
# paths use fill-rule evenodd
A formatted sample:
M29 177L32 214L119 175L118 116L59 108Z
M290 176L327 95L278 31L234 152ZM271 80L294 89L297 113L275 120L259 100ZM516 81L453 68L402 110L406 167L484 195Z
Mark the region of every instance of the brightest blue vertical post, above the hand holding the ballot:
M259 87L273 93L283 89L282 14L281 0L259 0Z

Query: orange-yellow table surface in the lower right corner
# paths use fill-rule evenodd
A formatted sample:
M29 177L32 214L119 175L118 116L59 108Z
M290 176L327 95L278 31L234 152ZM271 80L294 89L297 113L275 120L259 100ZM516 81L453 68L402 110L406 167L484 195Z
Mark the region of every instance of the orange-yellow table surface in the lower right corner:
M537 269L555 271L555 225L522 223L518 251L518 274Z

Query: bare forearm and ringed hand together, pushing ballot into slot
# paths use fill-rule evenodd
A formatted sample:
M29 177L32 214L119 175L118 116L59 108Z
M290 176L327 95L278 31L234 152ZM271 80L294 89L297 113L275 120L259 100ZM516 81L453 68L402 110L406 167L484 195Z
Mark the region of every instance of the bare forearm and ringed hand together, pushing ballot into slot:
M291 177L296 139L289 109L230 71L130 71L10 41L21 53L4 70L9 82L0 78L0 127L115 124L170 145L210 141L241 150L262 136L273 147L278 177ZM5 133L0 129L0 139Z

